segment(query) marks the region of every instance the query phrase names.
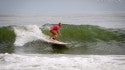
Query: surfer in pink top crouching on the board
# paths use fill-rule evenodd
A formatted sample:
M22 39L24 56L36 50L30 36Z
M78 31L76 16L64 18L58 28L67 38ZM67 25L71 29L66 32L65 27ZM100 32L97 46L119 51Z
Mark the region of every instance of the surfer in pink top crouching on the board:
M55 40L56 37L61 35L60 31L59 31L61 26L62 26L62 23L59 22L58 24L55 24L55 25L50 27L50 33L51 33L50 39Z

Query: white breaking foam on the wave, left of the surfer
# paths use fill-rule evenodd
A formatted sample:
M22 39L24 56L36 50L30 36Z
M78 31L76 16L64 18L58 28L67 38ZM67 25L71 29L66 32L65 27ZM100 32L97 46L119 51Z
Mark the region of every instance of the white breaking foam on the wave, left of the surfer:
M25 25L14 27L16 33L15 46L23 46L24 44L36 40L47 41L48 36L44 35L37 25Z

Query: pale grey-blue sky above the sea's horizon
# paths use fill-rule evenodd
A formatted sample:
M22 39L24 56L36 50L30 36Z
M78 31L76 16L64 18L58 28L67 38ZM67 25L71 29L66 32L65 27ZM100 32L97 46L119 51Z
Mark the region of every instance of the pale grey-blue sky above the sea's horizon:
M0 0L0 13L125 11L125 0Z

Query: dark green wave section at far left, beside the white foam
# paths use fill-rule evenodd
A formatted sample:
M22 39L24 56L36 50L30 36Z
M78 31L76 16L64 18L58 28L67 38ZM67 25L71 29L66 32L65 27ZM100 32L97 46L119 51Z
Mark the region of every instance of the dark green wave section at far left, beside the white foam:
M15 33L11 26L0 28L0 53L13 53Z

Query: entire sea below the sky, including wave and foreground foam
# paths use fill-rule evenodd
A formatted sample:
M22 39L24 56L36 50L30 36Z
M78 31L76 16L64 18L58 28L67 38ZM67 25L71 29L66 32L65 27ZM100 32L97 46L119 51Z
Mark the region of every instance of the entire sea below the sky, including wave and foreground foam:
M63 22L50 43L49 26ZM124 70L125 14L1 14L0 70Z

